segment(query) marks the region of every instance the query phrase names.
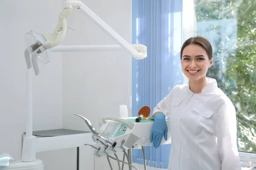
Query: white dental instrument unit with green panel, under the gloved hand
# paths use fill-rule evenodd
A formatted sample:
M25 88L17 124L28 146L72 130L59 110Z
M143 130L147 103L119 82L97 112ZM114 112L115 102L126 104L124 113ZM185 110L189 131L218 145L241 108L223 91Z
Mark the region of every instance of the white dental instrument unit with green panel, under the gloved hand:
M79 117L81 119L86 119L80 115ZM115 154L116 152L125 152L125 150L141 149L145 146L151 146L152 143L150 142L150 134L154 120L142 119L140 122L136 122L136 118L137 117L119 118L113 116L103 116L103 125L99 134L92 132L92 138L95 144L84 145L92 147L95 150L93 154L96 157L109 157L109 155ZM170 128L169 123L167 123L167 126ZM171 136L170 131L168 132L168 136ZM161 144L171 144L171 138L169 137L167 141L162 139ZM131 162L130 158L127 160L128 162ZM128 164L128 166L131 165Z

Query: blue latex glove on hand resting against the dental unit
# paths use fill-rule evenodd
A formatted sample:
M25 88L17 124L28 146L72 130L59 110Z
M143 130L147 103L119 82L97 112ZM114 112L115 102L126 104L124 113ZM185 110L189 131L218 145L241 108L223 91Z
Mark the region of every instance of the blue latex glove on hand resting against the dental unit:
M157 113L154 116L154 124L151 130L150 142L153 142L155 148L159 147L161 141L164 139L167 141L168 127L166 124L166 116L163 113Z

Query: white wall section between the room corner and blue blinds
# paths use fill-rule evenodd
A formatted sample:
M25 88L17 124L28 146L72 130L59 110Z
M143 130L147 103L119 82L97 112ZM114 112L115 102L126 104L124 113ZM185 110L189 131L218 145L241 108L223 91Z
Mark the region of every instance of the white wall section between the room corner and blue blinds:
M131 43L131 0L83 2ZM78 10L74 9L67 21L68 26L75 31L67 30L64 45L117 44ZM63 53L64 128L89 130L79 117L73 116L73 113L90 119L98 131L102 116L119 116L119 105L128 105L131 115L131 59L126 51ZM81 157L83 153L81 152ZM89 153L87 156L92 155ZM95 163L95 170L110 169L105 157L95 158ZM116 162L113 161L114 165Z

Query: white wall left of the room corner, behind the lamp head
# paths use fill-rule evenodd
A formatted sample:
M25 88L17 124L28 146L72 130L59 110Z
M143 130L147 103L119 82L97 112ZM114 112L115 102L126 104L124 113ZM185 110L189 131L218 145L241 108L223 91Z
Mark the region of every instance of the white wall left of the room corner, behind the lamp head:
M9 152L15 159L21 158L27 113L24 34L52 32L61 10L62 0L0 1L0 153ZM52 62L40 65L41 74L33 76L33 130L62 127L61 56L55 54ZM37 156L46 168L52 166L53 156Z

